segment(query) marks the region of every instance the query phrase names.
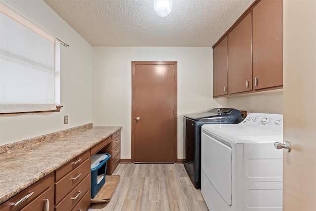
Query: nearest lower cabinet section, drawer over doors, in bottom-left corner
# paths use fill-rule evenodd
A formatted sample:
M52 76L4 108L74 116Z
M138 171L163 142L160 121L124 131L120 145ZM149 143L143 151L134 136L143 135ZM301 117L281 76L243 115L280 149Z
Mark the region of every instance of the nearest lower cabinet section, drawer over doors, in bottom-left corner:
M0 205L1 211L53 211L54 172Z

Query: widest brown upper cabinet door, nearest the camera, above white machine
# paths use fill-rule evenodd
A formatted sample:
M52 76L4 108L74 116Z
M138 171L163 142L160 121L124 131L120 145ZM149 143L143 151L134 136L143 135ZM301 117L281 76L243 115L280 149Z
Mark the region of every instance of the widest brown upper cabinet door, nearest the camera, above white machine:
M254 89L283 84L283 1L261 0L252 10Z

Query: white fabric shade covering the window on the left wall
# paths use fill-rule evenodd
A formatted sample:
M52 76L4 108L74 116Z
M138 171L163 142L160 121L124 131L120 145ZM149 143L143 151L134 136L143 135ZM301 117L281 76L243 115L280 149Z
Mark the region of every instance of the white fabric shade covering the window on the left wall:
M0 13L0 113L55 110L55 39L7 15Z

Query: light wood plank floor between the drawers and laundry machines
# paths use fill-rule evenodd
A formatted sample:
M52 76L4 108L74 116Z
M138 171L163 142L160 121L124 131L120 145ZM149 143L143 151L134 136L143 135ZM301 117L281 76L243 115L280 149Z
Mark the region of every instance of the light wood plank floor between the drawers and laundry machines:
M208 211L183 164L118 164L120 182L108 203L88 211Z

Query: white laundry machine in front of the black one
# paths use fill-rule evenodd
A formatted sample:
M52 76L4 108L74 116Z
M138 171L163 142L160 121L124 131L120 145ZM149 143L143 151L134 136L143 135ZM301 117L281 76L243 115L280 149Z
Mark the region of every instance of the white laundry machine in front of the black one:
M201 193L210 211L282 211L283 115L203 125Z

